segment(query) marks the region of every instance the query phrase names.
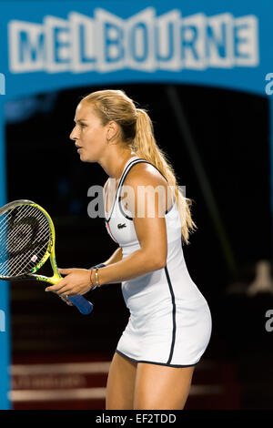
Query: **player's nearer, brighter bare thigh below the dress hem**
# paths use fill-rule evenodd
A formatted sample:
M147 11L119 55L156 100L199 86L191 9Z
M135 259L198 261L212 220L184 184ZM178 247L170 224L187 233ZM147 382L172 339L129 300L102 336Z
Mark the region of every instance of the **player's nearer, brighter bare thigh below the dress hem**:
M194 369L138 362L134 409L183 409Z

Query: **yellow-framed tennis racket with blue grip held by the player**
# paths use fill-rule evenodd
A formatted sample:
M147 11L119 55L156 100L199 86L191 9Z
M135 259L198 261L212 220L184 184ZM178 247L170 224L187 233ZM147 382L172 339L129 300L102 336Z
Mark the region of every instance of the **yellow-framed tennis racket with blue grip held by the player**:
M55 257L55 228L45 209L31 200L15 200L0 209L0 280L43 280L57 284L62 276ZM36 275L50 258L52 277ZM83 296L67 296L87 315L93 310Z

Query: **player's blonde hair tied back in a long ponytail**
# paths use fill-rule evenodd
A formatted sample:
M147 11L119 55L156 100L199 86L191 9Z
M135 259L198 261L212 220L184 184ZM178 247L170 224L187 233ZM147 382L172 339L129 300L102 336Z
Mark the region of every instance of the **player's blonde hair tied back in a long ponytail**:
M116 121L120 127L120 139L139 158L153 164L167 178L167 183L174 189L179 216L181 219L182 240L189 244L189 233L197 229L191 218L192 199L184 197L177 184L175 171L167 160L167 154L157 146L154 128L147 111L136 108L134 101L122 90L106 89L92 92L82 99L92 103L103 125L110 120Z

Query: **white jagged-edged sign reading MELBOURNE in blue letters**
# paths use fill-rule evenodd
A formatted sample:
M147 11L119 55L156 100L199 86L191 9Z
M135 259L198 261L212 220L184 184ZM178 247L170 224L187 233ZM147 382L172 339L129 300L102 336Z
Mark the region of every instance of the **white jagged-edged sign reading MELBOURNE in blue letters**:
M43 24L8 24L12 73L145 72L258 66L258 18L229 13L157 16L154 7L128 19L96 8L94 17L46 15Z

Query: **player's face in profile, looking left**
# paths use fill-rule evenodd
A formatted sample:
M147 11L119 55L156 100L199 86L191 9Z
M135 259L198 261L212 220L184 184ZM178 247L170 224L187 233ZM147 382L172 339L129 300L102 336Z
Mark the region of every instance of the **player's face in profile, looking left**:
M83 162L96 162L106 148L107 127L103 126L92 106L81 102L76 107L76 125L70 138L75 141Z

